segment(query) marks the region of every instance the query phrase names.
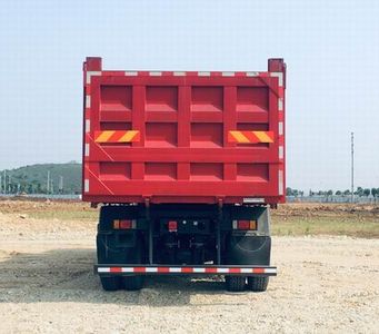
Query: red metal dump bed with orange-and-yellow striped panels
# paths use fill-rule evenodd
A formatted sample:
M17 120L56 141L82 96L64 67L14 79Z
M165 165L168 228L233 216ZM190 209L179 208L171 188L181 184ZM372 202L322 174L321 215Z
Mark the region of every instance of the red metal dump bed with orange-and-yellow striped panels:
M286 65L265 72L84 66L83 200L285 200Z

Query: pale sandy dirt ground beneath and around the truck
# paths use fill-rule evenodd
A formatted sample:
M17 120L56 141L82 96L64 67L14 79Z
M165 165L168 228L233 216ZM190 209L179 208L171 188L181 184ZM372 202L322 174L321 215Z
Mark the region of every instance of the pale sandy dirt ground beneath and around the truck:
M318 207L276 215L328 214ZM357 215L352 209L335 214ZM69 210L79 214L51 216ZM97 214L88 210L0 202L0 333L378 333L378 238L273 237L279 274L266 293L172 276L148 278L141 292L106 293L92 271ZM360 210L377 215L376 207Z

